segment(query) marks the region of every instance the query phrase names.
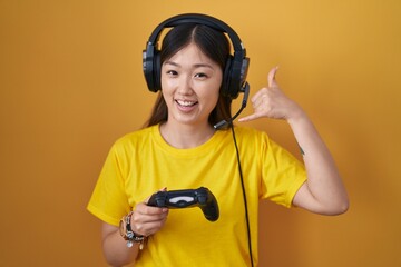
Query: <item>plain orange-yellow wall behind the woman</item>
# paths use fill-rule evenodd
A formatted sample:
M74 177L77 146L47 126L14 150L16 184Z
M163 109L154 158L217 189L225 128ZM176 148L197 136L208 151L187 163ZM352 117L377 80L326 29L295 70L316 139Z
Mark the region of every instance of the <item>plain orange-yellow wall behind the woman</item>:
M252 93L280 66L350 194L340 217L263 204L261 266L401 266L399 0L0 0L0 265L106 266L86 204L113 141L155 100L147 38L182 12L237 31ZM251 125L299 154L285 122Z

